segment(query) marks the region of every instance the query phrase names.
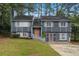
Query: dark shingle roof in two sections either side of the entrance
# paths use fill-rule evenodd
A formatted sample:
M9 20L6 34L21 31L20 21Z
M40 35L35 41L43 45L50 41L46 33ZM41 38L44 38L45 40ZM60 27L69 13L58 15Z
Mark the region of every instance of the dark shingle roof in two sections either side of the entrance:
M13 21L32 21L33 16L20 15L16 16ZM63 16L41 16L41 21L70 21L67 17Z

